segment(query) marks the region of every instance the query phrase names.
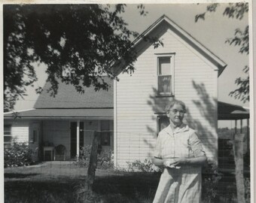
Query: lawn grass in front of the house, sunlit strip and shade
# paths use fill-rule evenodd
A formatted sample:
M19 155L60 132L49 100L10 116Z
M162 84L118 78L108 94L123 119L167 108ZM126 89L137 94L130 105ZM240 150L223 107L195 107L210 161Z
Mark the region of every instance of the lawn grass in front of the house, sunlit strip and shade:
M153 201L160 179L160 174L155 173L97 169L93 193L91 193L84 190L86 174L86 168L78 168L64 162L5 168L5 202L150 203ZM205 189L206 185L203 185L203 191ZM224 191L227 192L227 188ZM230 189L228 191L227 193L231 192ZM221 195L222 199L227 199L224 197L227 194ZM203 198L205 198L204 192ZM223 202L220 199L221 197L218 200L215 198L215 201L203 200L203 203Z

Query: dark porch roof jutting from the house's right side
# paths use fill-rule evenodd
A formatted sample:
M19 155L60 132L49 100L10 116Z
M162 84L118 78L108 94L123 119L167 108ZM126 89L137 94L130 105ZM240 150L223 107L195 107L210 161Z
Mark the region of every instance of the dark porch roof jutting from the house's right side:
M218 102L218 120L242 120L250 117L248 108L239 105L231 105Z

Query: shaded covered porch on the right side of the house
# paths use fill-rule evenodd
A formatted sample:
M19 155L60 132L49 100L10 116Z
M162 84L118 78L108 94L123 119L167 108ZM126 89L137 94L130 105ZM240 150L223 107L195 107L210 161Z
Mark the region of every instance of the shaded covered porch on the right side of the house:
M229 136L221 137L221 135L218 135L218 165L220 171L235 171L233 156L233 144L235 141L240 141L242 144L244 171L245 173L250 171L249 118L249 108L218 102L218 121L227 120L233 123Z

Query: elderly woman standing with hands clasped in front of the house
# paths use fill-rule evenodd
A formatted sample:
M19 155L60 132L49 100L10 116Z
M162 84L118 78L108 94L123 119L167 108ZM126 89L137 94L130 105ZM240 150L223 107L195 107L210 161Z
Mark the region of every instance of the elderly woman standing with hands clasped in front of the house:
M200 203L201 166L206 153L196 132L182 123L186 107L173 100L166 106L169 126L158 137L153 163L163 166L154 203Z

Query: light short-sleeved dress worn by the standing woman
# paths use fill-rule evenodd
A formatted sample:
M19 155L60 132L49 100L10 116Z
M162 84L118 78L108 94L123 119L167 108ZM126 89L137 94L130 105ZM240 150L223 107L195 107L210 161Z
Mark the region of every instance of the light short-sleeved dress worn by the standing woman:
M205 156L196 132L182 124L173 132L171 126L158 137L154 157L160 159ZM181 168L164 168L154 197L154 203L200 203L201 167L181 165Z

